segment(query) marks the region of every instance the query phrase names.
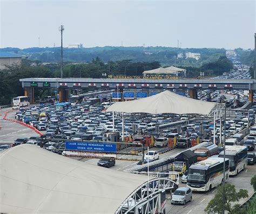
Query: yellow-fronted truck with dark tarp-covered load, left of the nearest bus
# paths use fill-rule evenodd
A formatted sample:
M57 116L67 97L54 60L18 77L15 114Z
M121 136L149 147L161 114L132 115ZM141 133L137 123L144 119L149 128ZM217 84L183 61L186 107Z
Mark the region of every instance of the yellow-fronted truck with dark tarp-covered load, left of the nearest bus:
M172 163L172 170L184 174L186 170L197 162L197 154L192 152L190 149L178 154Z

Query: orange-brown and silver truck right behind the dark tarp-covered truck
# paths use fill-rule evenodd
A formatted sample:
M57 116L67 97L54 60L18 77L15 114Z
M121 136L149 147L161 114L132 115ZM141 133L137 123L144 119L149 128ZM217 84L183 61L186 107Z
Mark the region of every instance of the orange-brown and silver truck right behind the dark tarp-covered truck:
M206 160L212 155L219 154L219 147L212 142L209 142L194 151L197 154L197 161Z

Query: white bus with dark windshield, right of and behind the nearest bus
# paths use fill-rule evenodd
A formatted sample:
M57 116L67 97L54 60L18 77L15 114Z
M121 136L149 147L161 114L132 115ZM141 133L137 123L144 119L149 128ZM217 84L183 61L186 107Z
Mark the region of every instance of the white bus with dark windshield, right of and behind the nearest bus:
M247 147L228 146L226 147L225 157L230 159L230 175L237 175L247 166ZM224 157L224 151L220 152L220 158Z

